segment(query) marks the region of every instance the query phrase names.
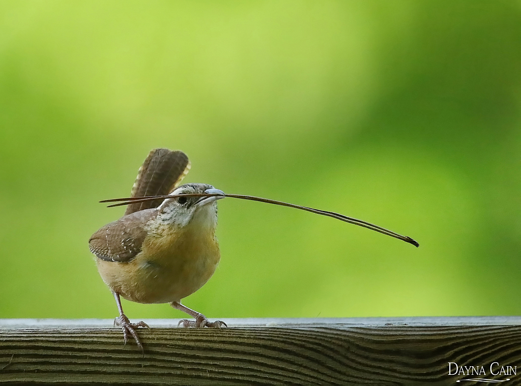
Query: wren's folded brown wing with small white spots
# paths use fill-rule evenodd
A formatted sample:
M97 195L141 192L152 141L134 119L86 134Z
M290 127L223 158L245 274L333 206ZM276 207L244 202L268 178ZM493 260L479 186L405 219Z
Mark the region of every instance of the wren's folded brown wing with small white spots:
M143 210L121 217L100 228L89 240L89 248L106 261L129 262L141 252L146 237L144 225L157 215L154 209Z

